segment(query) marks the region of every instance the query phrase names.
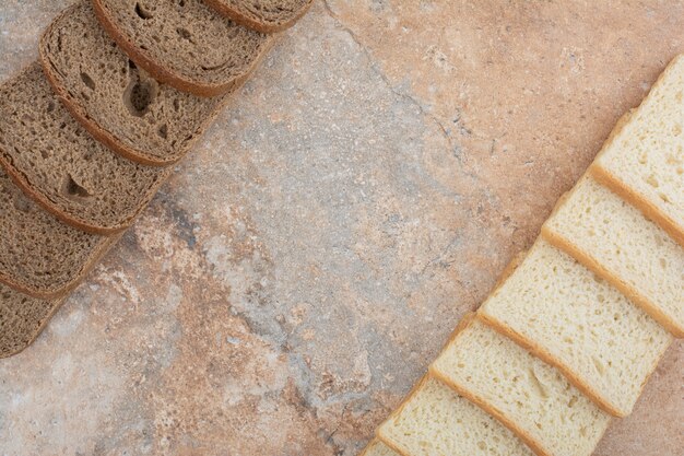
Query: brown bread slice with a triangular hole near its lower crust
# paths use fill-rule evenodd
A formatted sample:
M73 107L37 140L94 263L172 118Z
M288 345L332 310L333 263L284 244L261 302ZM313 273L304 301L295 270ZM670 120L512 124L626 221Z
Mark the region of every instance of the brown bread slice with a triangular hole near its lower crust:
M0 163L40 206L98 234L129 226L172 171L135 164L95 141L38 63L0 89Z

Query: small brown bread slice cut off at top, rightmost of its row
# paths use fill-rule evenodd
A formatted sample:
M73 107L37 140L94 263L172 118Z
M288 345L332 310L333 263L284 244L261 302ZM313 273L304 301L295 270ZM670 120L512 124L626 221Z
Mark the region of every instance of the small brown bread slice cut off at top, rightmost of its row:
M226 17L263 33L282 32L293 26L312 0L204 0Z

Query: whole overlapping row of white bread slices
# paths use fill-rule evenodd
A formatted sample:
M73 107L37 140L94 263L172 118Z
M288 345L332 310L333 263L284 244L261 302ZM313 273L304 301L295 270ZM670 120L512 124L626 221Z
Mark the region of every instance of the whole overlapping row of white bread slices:
M365 456L589 456L684 337L684 55Z

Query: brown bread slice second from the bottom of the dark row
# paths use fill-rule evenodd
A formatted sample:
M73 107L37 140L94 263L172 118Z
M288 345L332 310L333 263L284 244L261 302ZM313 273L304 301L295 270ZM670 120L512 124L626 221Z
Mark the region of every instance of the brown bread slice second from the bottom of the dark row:
M69 226L26 198L0 167L0 282L34 297L73 290L119 235Z

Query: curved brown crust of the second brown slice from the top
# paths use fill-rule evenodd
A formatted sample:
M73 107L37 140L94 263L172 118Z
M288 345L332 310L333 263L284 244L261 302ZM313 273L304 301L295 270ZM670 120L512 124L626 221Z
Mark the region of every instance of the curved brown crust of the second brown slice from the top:
M126 34L121 33L118 30L111 17L109 17L109 14L107 13L106 8L102 4L101 0L92 1L95 15L97 16L101 25L117 43L121 50L123 50L128 55L128 57L135 62L135 65L149 72L158 82L168 84L172 87L175 87L181 92L191 93L197 96L209 97L223 95L231 89L243 84L249 78L252 70L259 65L263 55L267 54L273 45L273 39L269 39L266 43L263 51L260 52L261 55L252 61L245 74L241 74L223 84L201 84L197 81L191 81L175 73L172 70L164 68L145 52L142 52L140 48L133 42L131 42L128 36L126 36Z

